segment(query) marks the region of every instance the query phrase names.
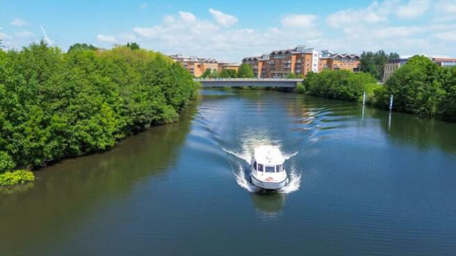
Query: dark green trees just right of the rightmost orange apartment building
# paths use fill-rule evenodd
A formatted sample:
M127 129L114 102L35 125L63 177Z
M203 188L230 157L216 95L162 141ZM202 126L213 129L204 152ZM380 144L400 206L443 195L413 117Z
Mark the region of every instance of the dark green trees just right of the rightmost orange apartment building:
M398 53L389 53L389 55L386 55L384 51L377 51L376 53L363 51L361 54L360 70L371 74L377 80L382 80L384 65L390 60L397 60L398 58L400 58Z

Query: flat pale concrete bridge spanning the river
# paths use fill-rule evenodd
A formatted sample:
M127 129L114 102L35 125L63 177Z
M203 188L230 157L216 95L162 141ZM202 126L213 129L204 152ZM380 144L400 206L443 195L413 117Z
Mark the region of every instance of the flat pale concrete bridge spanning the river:
M295 88L302 78L195 78L202 87L286 87Z

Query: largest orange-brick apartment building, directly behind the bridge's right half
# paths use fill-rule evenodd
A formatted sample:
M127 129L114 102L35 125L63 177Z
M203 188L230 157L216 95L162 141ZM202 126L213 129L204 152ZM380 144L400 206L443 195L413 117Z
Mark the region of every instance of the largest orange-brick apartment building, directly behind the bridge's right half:
M310 71L318 71L318 51L298 45L294 49L272 51L259 57L246 57L243 63L252 67L257 78L284 78L291 73L306 76Z

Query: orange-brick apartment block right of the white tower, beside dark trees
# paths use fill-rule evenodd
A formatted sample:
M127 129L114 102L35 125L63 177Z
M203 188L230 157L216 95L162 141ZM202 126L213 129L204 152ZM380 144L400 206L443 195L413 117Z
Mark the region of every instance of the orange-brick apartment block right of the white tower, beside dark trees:
M348 69L358 71L361 56L357 54L332 53L332 51L321 51L318 72L323 69Z

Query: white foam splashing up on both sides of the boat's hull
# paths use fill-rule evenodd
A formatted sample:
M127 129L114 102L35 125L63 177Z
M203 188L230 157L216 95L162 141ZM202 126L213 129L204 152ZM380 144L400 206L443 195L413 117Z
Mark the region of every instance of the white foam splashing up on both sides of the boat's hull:
M234 155L235 157L237 157L241 160L245 160L245 162L250 164L250 159L251 159L252 155L250 155L249 153L238 154L238 153L234 153L233 151L229 151L225 148L222 148L222 149L223 149L223 151L225 151L231 155ZM298 154L298 152L295 152L290 155L284 155L284 158L285 158L285 160L288 160L297 154ZM233 174L236 177L236 183L238 183L238 185L240 187L242 187L243 189L246 189L250 193L254 193L260 189L258 187L256 187L255 185L253 185L252 182L250 182L250 171L246 172L244 165L245 165L244 163L239 163L237 172L233 171ZM287 170L287 172L288 172L287 174L288 174L289 182L287 185L285 185L285 187L282 187L282 189L278 189L277 193L290 194L290 193L293 193L294 191L298 191L298 189L300 188L301 176L302 176L301 173L298 172L295 168L293 168L293 166L291 166Z

